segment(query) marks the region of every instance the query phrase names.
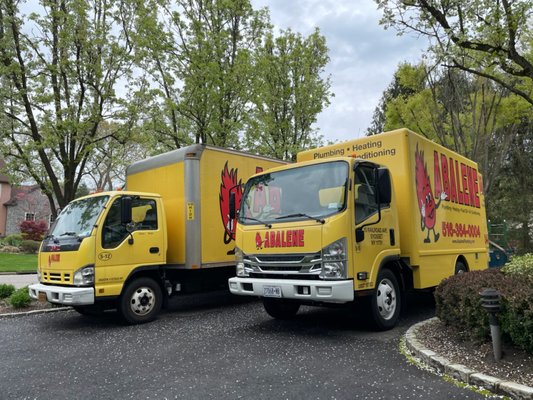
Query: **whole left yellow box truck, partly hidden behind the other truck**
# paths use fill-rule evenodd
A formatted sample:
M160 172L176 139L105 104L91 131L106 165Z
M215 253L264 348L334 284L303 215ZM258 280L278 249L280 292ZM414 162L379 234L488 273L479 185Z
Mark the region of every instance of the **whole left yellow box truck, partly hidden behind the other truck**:
M62 210L42 242L30 296L82 314L117 308L141 323L170 295L227 288L235 275L229 193L236 188L239 201L240 183L280 164L193 145L129 166L126 191Z

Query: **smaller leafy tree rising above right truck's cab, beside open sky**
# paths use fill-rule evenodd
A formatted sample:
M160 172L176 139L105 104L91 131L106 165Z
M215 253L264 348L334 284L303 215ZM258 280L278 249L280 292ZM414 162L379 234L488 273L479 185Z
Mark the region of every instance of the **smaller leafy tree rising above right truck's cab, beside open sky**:
M268 34L257 56L254 103L246 145L284 160L317 145L316 116L329 104L329 61L325 38L316 29L307 38L291 30Z

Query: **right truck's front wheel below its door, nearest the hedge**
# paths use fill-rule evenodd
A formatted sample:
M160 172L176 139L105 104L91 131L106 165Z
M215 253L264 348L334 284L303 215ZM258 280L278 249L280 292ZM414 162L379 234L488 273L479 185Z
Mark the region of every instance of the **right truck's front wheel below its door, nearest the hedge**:
M380 331L394 328L400 318L401 306L402 293L396 275L389 269L382 269L370 299L370 313L375 327Z

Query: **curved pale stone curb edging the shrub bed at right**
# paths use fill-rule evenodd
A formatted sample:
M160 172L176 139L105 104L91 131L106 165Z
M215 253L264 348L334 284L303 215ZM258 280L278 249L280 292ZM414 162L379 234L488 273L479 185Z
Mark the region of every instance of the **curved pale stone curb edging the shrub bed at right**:
M483 387L494 394L509 396L513 399L533 400L533 387L482 374L465 365L452 363L435 351L425 348L416 338L416 333L418 328L435 320L438 320L438 318L434 317L419 322L410 327L405 333L406 347L413 356L418 358L423 364L431 369L446 374L468 385Z

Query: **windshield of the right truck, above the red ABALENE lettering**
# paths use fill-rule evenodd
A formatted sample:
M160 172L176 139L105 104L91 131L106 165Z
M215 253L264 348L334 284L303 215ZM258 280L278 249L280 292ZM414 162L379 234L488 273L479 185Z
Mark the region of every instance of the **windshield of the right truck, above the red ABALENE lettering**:
M243 192L239 223L323 222L345 207L348 171L347 162L332 161L253 177Z

